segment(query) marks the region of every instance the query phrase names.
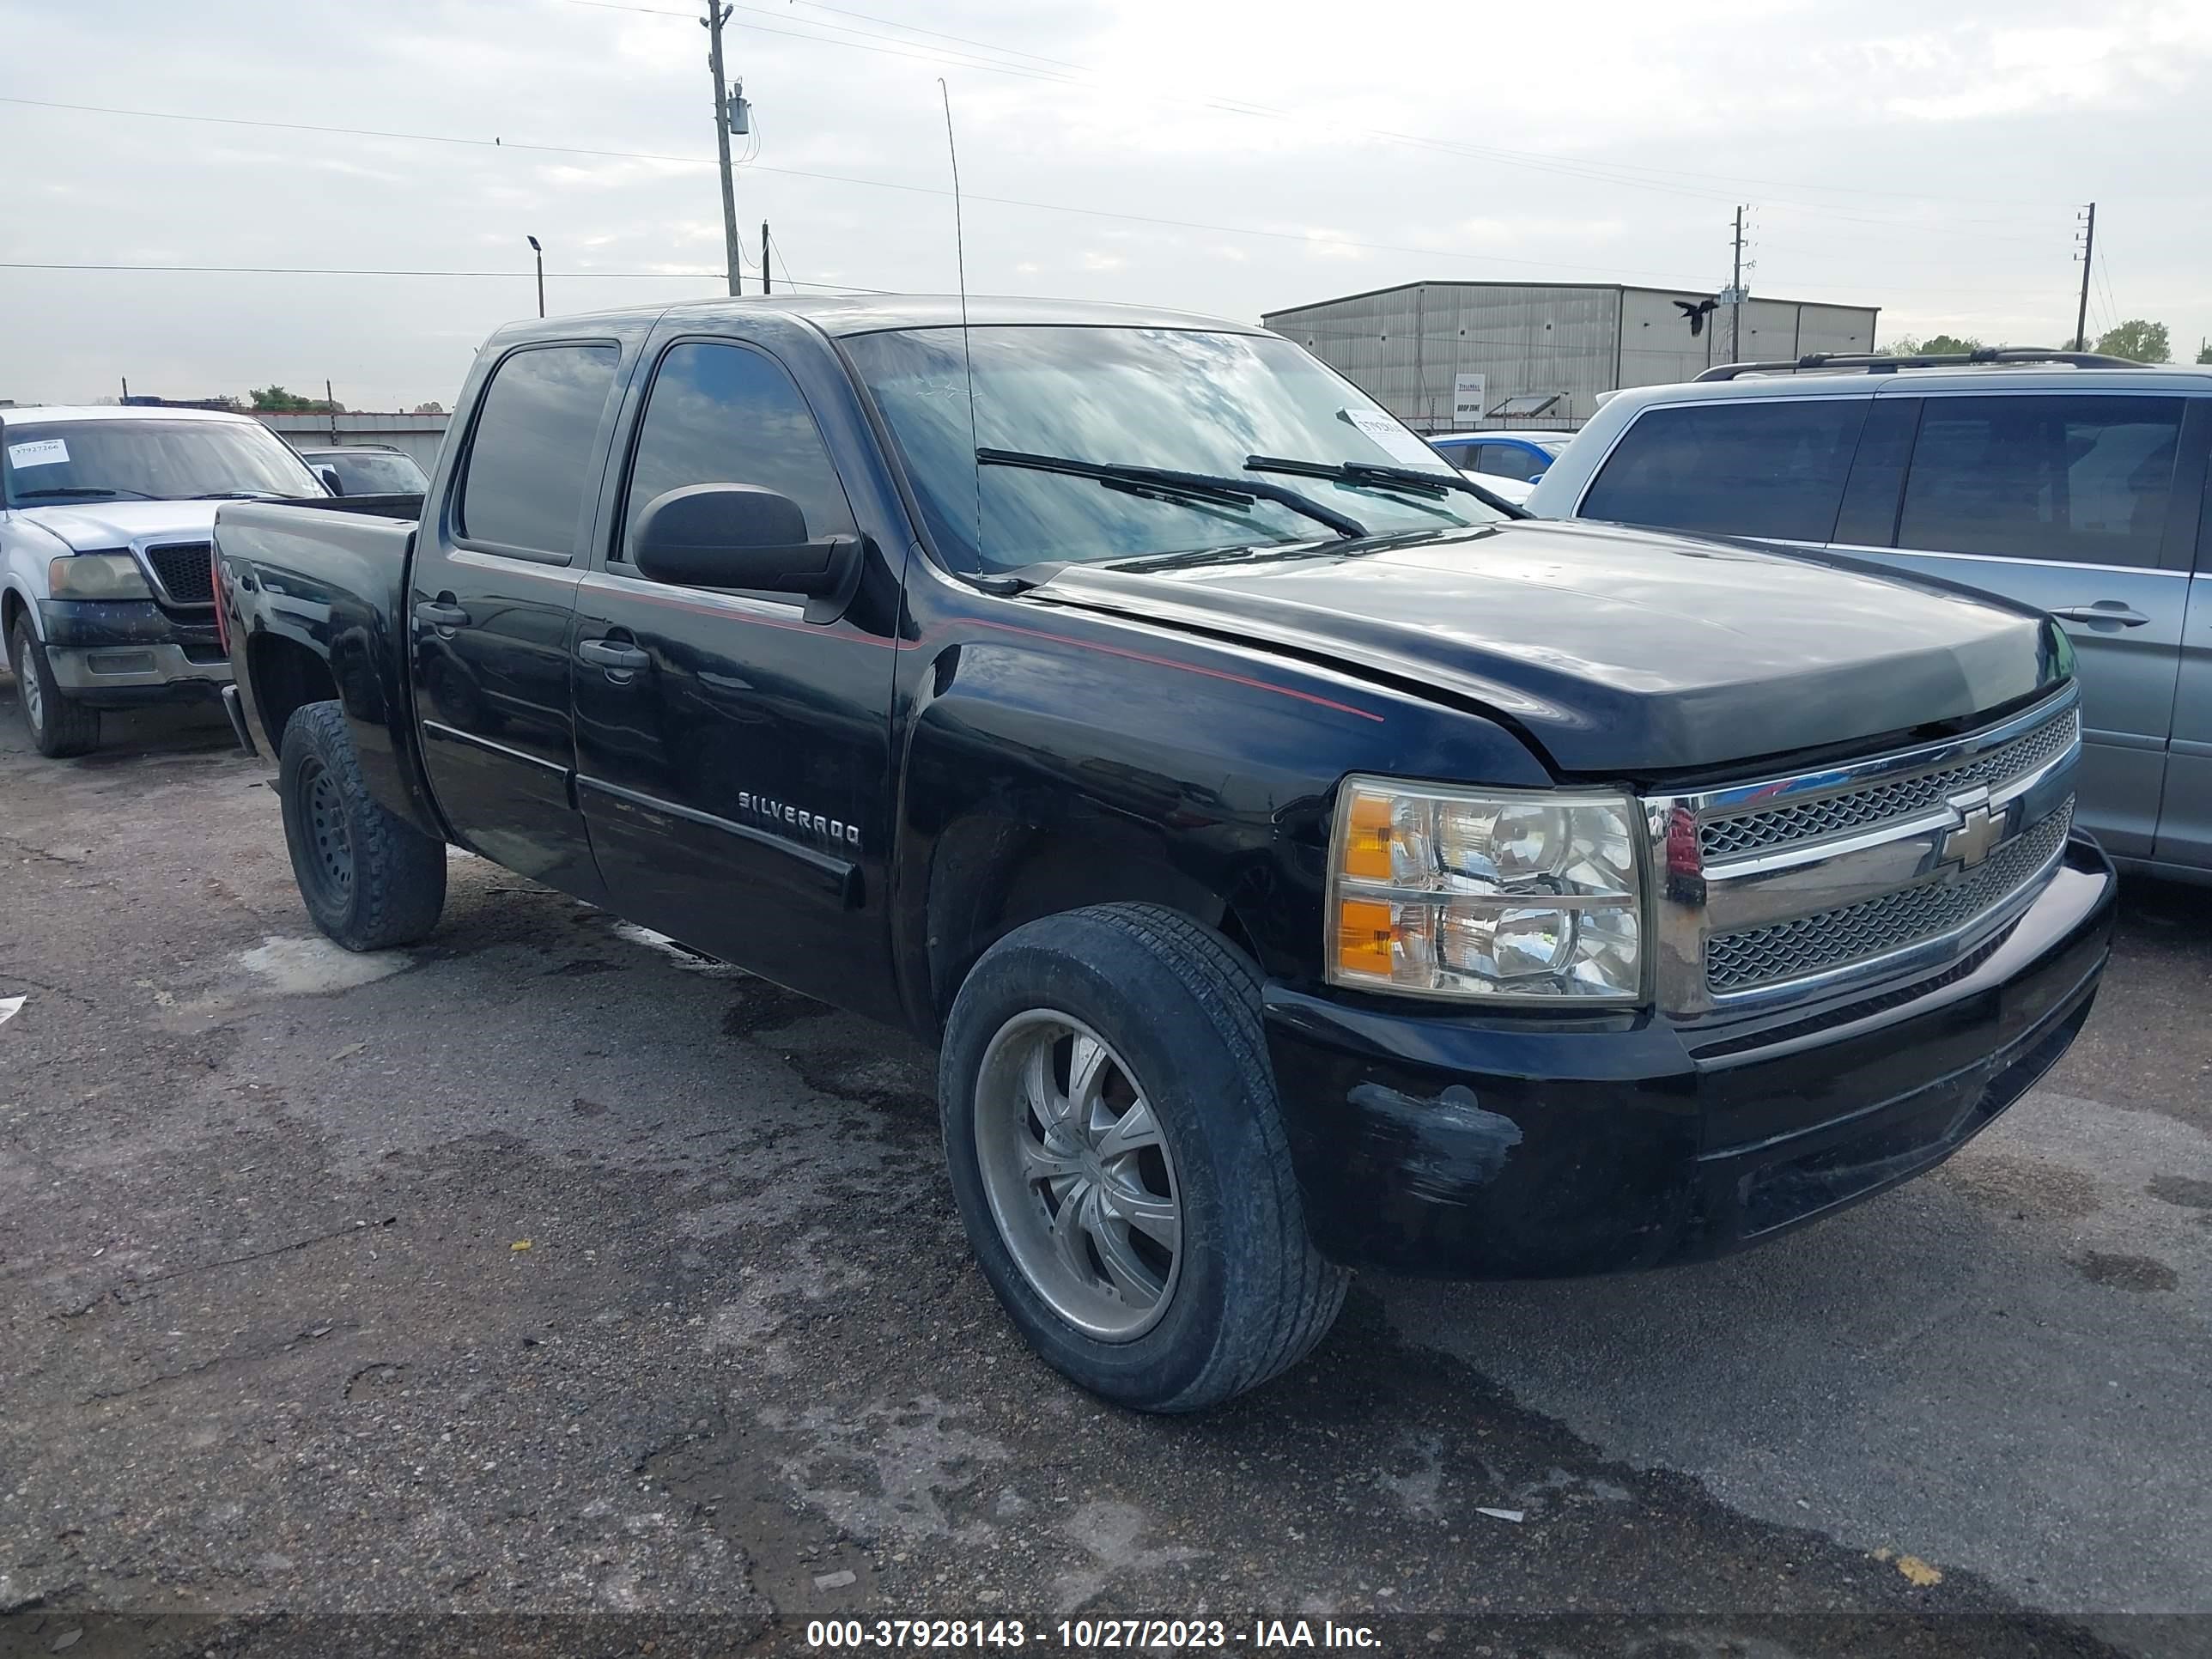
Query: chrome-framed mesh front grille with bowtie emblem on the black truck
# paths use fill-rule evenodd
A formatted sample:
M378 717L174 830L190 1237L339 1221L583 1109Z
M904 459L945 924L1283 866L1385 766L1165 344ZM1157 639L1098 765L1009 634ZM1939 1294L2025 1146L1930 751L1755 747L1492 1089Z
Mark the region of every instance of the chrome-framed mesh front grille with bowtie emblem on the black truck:
M1694 1018L1951 967L2051 880L2079 757L2066 686L1966 737L1646 796L1661 1006Z

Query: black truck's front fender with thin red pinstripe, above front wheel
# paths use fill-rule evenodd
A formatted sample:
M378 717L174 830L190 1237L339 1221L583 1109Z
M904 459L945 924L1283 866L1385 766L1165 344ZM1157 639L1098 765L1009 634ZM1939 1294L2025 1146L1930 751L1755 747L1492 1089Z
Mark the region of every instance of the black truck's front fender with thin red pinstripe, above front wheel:
M1026 920L1002 900L1040 856L1060 858L1046 898L1066 900L1046 911L1172 902L1234 922L1270 980L1318 984L1345 774L1551 783L1504 726L1409 692L1168 630L1004 608L1020 619L969 617L905 653L894 918L922 1029L942 1022L991 938Z

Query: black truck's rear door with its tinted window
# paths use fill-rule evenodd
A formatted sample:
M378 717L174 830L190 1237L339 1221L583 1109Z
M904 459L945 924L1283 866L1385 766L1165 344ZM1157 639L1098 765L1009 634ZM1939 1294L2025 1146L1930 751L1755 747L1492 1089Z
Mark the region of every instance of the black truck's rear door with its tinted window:
M422 763L453 834L593 900L568 635L619 367L615 341L529 341L491 367L409 595Z

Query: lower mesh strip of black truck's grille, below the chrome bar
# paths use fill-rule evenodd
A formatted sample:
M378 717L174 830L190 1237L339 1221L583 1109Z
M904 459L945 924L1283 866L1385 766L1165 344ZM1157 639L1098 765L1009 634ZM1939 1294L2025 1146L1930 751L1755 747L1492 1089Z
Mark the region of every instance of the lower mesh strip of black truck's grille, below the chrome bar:
M1966 927L2042 874L2070 827L2073 799L1958 880L1909 887L1770 927L1747 927L1741 933L1719 933L1705 940L1705 984L1714 995L1785 984Z

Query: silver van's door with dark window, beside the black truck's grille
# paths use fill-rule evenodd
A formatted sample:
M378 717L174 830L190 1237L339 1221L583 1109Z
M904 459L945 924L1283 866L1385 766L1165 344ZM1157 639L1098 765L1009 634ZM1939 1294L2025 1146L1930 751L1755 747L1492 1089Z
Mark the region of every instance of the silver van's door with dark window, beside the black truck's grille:
M2053 613L2081 675L2077 816L2108 852L2150 858L2201 493L2181 480L2203 476L2212 405L2048 389L1878 403L1838 546ZM1876 484L1900 456L1891 495Z

